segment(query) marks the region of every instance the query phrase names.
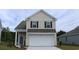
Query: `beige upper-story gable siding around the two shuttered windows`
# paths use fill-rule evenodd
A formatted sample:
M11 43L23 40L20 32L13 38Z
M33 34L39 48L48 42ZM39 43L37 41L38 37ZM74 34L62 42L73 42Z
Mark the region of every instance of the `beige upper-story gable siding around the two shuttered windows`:
M30 17L26 21L27 29L31 29L30 28L30 21L38 21L39 22L38 29L45 29L44 28L44 21L52 21L52 27L53 27L52 29L55 29L55 26L56 26L55 20L53 20L52 18L50 18L49 16L47 16L43 12L40 12L40 13L34 15L33 17Z

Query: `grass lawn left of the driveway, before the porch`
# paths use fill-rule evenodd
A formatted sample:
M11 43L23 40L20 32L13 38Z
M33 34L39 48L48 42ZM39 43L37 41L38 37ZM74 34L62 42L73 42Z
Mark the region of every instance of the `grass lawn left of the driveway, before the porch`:
M0 50L24 50L21 48L16 48L15 46L7 46L6 42L1 42L0 43Z

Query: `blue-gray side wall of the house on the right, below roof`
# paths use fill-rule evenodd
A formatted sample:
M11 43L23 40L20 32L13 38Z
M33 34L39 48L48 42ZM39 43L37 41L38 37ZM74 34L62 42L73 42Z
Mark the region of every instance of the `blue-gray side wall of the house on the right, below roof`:
M62 37L62 38L59 38L59 41L65 44L79 45L79 35L68 36L67 39L66 37Z

